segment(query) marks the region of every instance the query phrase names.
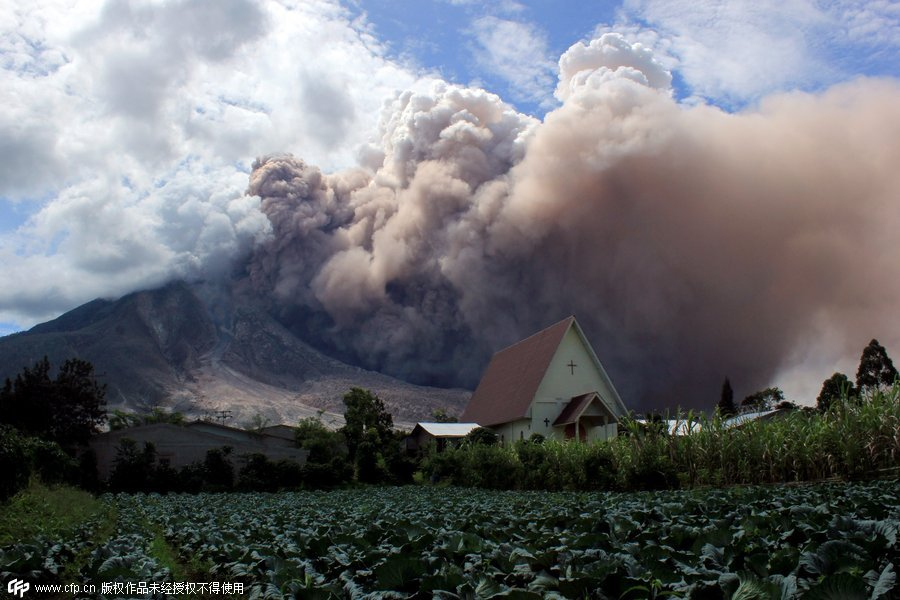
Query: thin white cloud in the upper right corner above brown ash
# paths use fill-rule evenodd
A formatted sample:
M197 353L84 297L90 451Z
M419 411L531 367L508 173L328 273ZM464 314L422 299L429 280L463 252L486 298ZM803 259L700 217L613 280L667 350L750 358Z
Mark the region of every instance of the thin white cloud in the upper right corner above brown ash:
M626 0L620 14L664 42L654 51L677 59L693 94L738 107L865 72L900 46L900 9L887 1Z

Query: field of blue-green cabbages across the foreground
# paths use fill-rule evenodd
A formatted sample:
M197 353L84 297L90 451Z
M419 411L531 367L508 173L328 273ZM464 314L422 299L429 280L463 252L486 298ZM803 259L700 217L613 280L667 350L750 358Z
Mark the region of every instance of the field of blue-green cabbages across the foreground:
M249 598L900 597L897 481L634 494L360 488L106 501L116 515L106 539L89 541L88 523L71 540L4 548L4 580L52 580L72 573L66 561L80 561L83 581L177 580L184 575L166 565L170 554L194 577L242 582L240 597Z

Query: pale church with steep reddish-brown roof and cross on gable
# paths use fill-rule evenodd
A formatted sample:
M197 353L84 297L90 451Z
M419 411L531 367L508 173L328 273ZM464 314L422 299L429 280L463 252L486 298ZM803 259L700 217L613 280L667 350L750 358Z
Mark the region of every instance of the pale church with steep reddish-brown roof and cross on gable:
M539 433L559 440L606 440L627 413L575 317L491 358L461 421L503 441Z

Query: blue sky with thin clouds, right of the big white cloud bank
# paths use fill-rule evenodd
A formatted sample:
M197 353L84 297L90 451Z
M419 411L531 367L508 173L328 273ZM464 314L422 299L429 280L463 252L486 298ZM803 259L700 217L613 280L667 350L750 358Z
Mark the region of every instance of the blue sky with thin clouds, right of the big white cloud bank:
M554 106L560 55L604 31L652 47L672 71L679 99L728 110L774 91L898 75L900 9L890 2L360 0L348 6L365 16L392 58L485 87L536 116ZM504 60L505 52L522 60Z

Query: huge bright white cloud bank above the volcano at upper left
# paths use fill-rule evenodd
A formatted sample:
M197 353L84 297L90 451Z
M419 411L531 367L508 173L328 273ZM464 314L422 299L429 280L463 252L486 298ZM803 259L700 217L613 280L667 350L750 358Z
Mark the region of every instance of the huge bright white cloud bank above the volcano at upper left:
M0 321L227 268L265 235L250 164L325 170L417 77L338 2L41 0L0 7Z

